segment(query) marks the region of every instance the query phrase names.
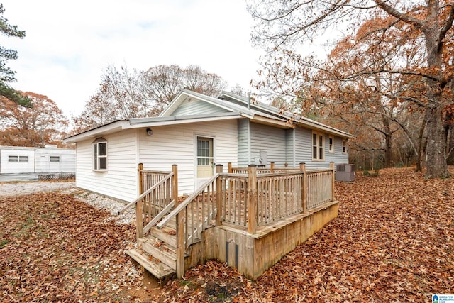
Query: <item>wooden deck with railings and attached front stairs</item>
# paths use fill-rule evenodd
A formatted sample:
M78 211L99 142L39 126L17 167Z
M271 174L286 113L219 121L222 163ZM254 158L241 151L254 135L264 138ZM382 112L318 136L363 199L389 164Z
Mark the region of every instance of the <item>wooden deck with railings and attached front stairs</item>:
M126 253L158 279L182 277L209 259L255 279L338 214L333 165L228 171L216 166L216 175L178 202L176 165L172 172L140 169L143 194L126 206L136 208L138 245Z

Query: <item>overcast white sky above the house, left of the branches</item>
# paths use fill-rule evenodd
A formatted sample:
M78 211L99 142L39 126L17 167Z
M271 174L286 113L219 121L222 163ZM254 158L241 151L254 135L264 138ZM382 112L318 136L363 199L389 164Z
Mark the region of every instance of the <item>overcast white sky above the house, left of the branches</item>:
M257 79L260 51L244 0L0 1L9 23L26 31L0 36L18 50L8 63L17 72L11 86L48 96L68 117L80 114L108 65L199 65L228 89Z

